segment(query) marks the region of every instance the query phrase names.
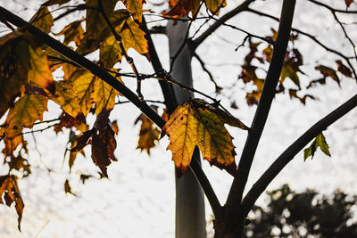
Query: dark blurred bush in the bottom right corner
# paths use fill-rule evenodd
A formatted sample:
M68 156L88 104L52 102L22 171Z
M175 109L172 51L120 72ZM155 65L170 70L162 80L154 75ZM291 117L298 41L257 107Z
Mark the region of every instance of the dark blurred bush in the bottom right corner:
M254 206L244 237L357 237L357 223L348 222L357 196L295 193L288 185L268 195L267 209Z

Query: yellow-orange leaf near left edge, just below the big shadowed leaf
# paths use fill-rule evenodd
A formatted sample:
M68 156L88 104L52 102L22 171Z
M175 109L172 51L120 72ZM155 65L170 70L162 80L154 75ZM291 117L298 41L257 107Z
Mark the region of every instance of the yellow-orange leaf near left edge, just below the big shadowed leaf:
M41 94L25 94L16 101L5 121L6 138L20 135L22 127L33 127L37 119L42 121L42 115L47 111L47 101L48 98Z

